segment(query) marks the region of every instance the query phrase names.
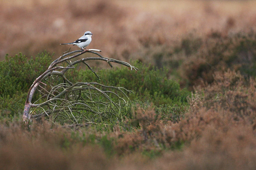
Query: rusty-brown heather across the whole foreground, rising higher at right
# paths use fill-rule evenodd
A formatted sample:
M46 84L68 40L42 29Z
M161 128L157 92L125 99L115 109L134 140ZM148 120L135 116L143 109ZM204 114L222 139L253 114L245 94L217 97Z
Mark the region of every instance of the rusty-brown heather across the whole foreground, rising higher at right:
M0 167L255 169L255 80L246 81L234 71L216 72L211 85L196 90L189 101L190 109L180 122L161 120L154 110L138 109L127 126L140 128L131 131L121 130L119 126L109 132L91 127L73 131L55 126L50 130L48 122L33 124L26 130L19 122L2 123ZM102 144L106 135L107 141ZM160 156L149 159L141 154L145 152L160 153Z

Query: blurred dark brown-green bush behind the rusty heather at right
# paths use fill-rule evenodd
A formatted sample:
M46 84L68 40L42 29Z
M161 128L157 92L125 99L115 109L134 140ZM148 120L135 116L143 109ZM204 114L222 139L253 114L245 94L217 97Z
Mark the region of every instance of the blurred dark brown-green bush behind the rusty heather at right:
M133 54L143 62L152 63L158 68L167 68L167 76L174 77L181 87L193 90L202 82L213 82L215 71L228 68L245 77L256 76L256 32L238 32L222 36L218 31L200 37L185 35L174 45L158 45L143 48Z

